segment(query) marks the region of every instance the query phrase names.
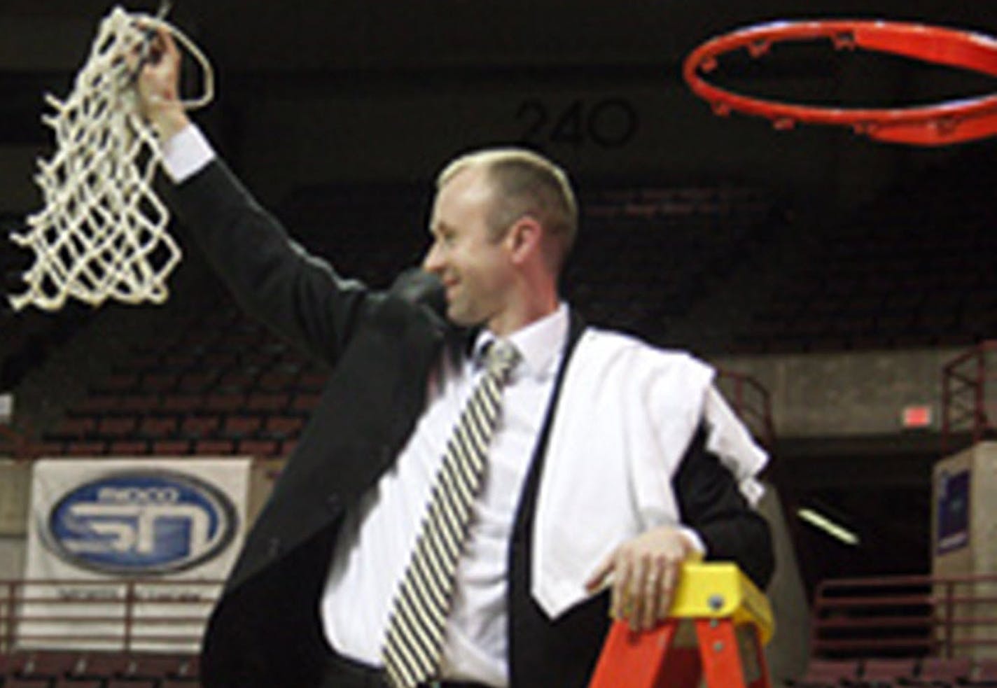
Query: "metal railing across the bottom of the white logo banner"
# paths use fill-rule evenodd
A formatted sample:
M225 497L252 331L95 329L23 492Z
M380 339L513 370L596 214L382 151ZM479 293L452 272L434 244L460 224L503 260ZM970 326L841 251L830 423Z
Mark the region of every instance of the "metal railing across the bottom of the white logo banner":
M0 652L189 652L220 580L0 580Z

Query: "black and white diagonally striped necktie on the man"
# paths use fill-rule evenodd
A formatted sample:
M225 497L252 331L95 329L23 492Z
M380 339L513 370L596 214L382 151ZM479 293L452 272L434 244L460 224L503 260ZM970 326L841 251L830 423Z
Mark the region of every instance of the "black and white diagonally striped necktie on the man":
M395 593L381 650L395 688L428 681L440 666L454 572L485 476L501 388L519 353L499 339L489 346L485 360L486 372L447 443L415 549Z

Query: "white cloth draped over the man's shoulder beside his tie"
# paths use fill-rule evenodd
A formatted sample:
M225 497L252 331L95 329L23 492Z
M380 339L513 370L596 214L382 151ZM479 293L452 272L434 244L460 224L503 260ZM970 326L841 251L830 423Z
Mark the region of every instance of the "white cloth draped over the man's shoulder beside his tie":
M680 524L672 477L701 421L707 447L755 504L767 456L682 352L589 328L565 372L533 530L532 594L551 618L587 597L584 582L614 547Z

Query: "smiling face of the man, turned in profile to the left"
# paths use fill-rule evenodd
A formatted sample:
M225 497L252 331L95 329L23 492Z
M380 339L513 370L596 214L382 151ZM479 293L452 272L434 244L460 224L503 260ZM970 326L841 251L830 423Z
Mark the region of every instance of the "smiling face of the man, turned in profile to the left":
M423 269L447 289L447 316L462 326L500 320L512 283L506 241L490 234L492 189L478 168L458 172L437 193L430 219L433 245Z

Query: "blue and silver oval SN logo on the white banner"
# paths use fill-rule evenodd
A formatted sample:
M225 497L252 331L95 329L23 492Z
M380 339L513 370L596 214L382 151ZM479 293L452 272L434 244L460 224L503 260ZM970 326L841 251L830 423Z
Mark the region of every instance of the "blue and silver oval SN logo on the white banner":
M104 573L166 573L217 555L235 532L235 509L218 490L165 472L116 474L63 497L48 541L64 559Z

